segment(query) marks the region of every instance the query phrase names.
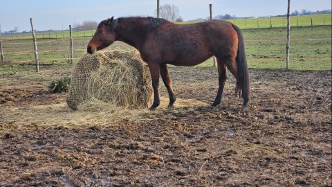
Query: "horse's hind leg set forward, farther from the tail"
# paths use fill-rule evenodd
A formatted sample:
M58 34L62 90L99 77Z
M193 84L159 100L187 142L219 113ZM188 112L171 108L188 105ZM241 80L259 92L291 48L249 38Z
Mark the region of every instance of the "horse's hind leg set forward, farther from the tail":
M215 107L216 105L219 105L221 103L221 96L223 95L223 88L225 87L225 82L227 79L226 74L226 65L219 60L219 58L216 59L218 62L218 82L219 82L219 88L218 92L216 93L216 98L214 99L214 102L212 103L212 107Z

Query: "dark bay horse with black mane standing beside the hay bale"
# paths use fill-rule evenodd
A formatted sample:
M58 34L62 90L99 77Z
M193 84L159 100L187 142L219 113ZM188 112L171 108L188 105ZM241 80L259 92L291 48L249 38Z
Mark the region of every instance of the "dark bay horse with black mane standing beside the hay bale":
M176 97L169 78L167 64L194 66L215 56L219 73L219 89L212 107L221 103L227 78L226 69L237 80L235 95L243 98L243 107L250 100L250 78L246 61L243 36L239 27L229 21L212 20L196 24L174 24L154 17L113 17L98 25L87 46L92 54L115 41L133 46L147 62L154 89L154 103L160 104L159 75L169 94L168 107L174 107Z

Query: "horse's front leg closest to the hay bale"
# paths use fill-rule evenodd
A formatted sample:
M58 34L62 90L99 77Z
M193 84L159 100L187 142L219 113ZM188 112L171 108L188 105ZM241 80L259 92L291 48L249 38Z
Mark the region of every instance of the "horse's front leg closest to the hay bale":
M151 80L152 80L152 88L154 89L154 103L152 106L149 107L149 110L155 110L156 107L160 105L160 98L159 98L159 72L160 66L156 64L148 63Z

